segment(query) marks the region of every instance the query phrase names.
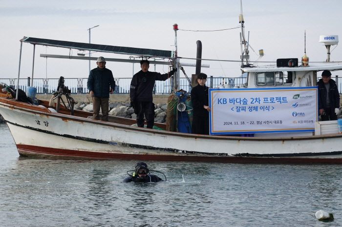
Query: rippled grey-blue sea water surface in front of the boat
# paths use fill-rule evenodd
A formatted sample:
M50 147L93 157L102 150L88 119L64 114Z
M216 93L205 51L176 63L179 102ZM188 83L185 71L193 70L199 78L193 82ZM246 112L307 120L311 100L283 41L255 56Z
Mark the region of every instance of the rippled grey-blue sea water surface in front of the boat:
M140 160L20 157L0 135L1 227L342 226L342 165L146 161L167 181L123 184Z

